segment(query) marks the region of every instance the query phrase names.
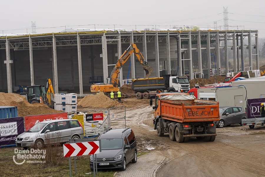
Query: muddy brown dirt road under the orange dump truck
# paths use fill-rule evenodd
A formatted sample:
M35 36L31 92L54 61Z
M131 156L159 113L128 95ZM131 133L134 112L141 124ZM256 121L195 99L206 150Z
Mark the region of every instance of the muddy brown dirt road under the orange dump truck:
M134 102L134 100L131 100ZM251 176L264 174L265 127L254 130L234 125L217 129L214 142L190 138L188 143L170 141L168 134L158 137L153 130L153 109L147 102L137 104L126 111L127 126L135 132L141 150L155 148L165 156L164 165L157 176ZM122 114L115 113L115 115ZM115 121L114 121L115 122ZM113 122L113 123L114 123ZM124 127L124 121L115 122L115 127Z

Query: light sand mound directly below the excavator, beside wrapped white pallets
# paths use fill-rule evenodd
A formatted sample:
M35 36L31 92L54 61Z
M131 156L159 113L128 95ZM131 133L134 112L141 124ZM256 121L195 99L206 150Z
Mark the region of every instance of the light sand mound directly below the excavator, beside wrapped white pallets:
M110 99L104 93L101 92L99 94L85 96L85 98L79 101L77 105L94 108L111 108L116 106L123 106L123 104L119 103L116 100Z

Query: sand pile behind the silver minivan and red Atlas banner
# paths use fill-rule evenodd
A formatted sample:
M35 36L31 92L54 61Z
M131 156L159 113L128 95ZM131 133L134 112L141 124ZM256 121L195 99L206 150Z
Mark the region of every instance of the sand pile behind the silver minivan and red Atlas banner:
M30 104L19 94L6 94L2 92L0 92L0 106L17 106L19 117L61 112L49 108L46 104Z

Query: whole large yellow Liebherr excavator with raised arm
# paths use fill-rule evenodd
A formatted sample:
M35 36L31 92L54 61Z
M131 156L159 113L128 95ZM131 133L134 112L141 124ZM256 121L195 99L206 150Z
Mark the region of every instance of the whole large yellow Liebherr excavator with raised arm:
M121 57L118 59L117 64L113 68L110 78L107 78L106 83L96 83L91 85L90 91L91 92L98 92L103 91L105 93L110 93L111 91L117 92L119 84L119 75L120 75L120 69L122 68L122 65L128 60L128 58L134 53L136 57L139 60L139 64L143 66L143 69L145 70L145 78L149 78L150 74L153 71L152 67L148 66L148 63L145 61L142 53L137 48L136 44L131 44L127 50L124 51L124 53L121 55Z

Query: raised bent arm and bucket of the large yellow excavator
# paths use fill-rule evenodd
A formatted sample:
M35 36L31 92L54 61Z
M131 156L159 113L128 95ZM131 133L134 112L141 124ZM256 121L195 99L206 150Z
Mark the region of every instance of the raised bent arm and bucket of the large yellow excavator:
M150 74L152 73L153 68L148 66L148 63L145 61L142 53L137 48L136 44L131 44L118 59L117 64L111 72L111 84L114 87L118 87L120 68L122 68L122 65L128 60L132 53L136 55L137 59L139 60L139 64L142 64L143 69L145 70L145 78L149 78Z

